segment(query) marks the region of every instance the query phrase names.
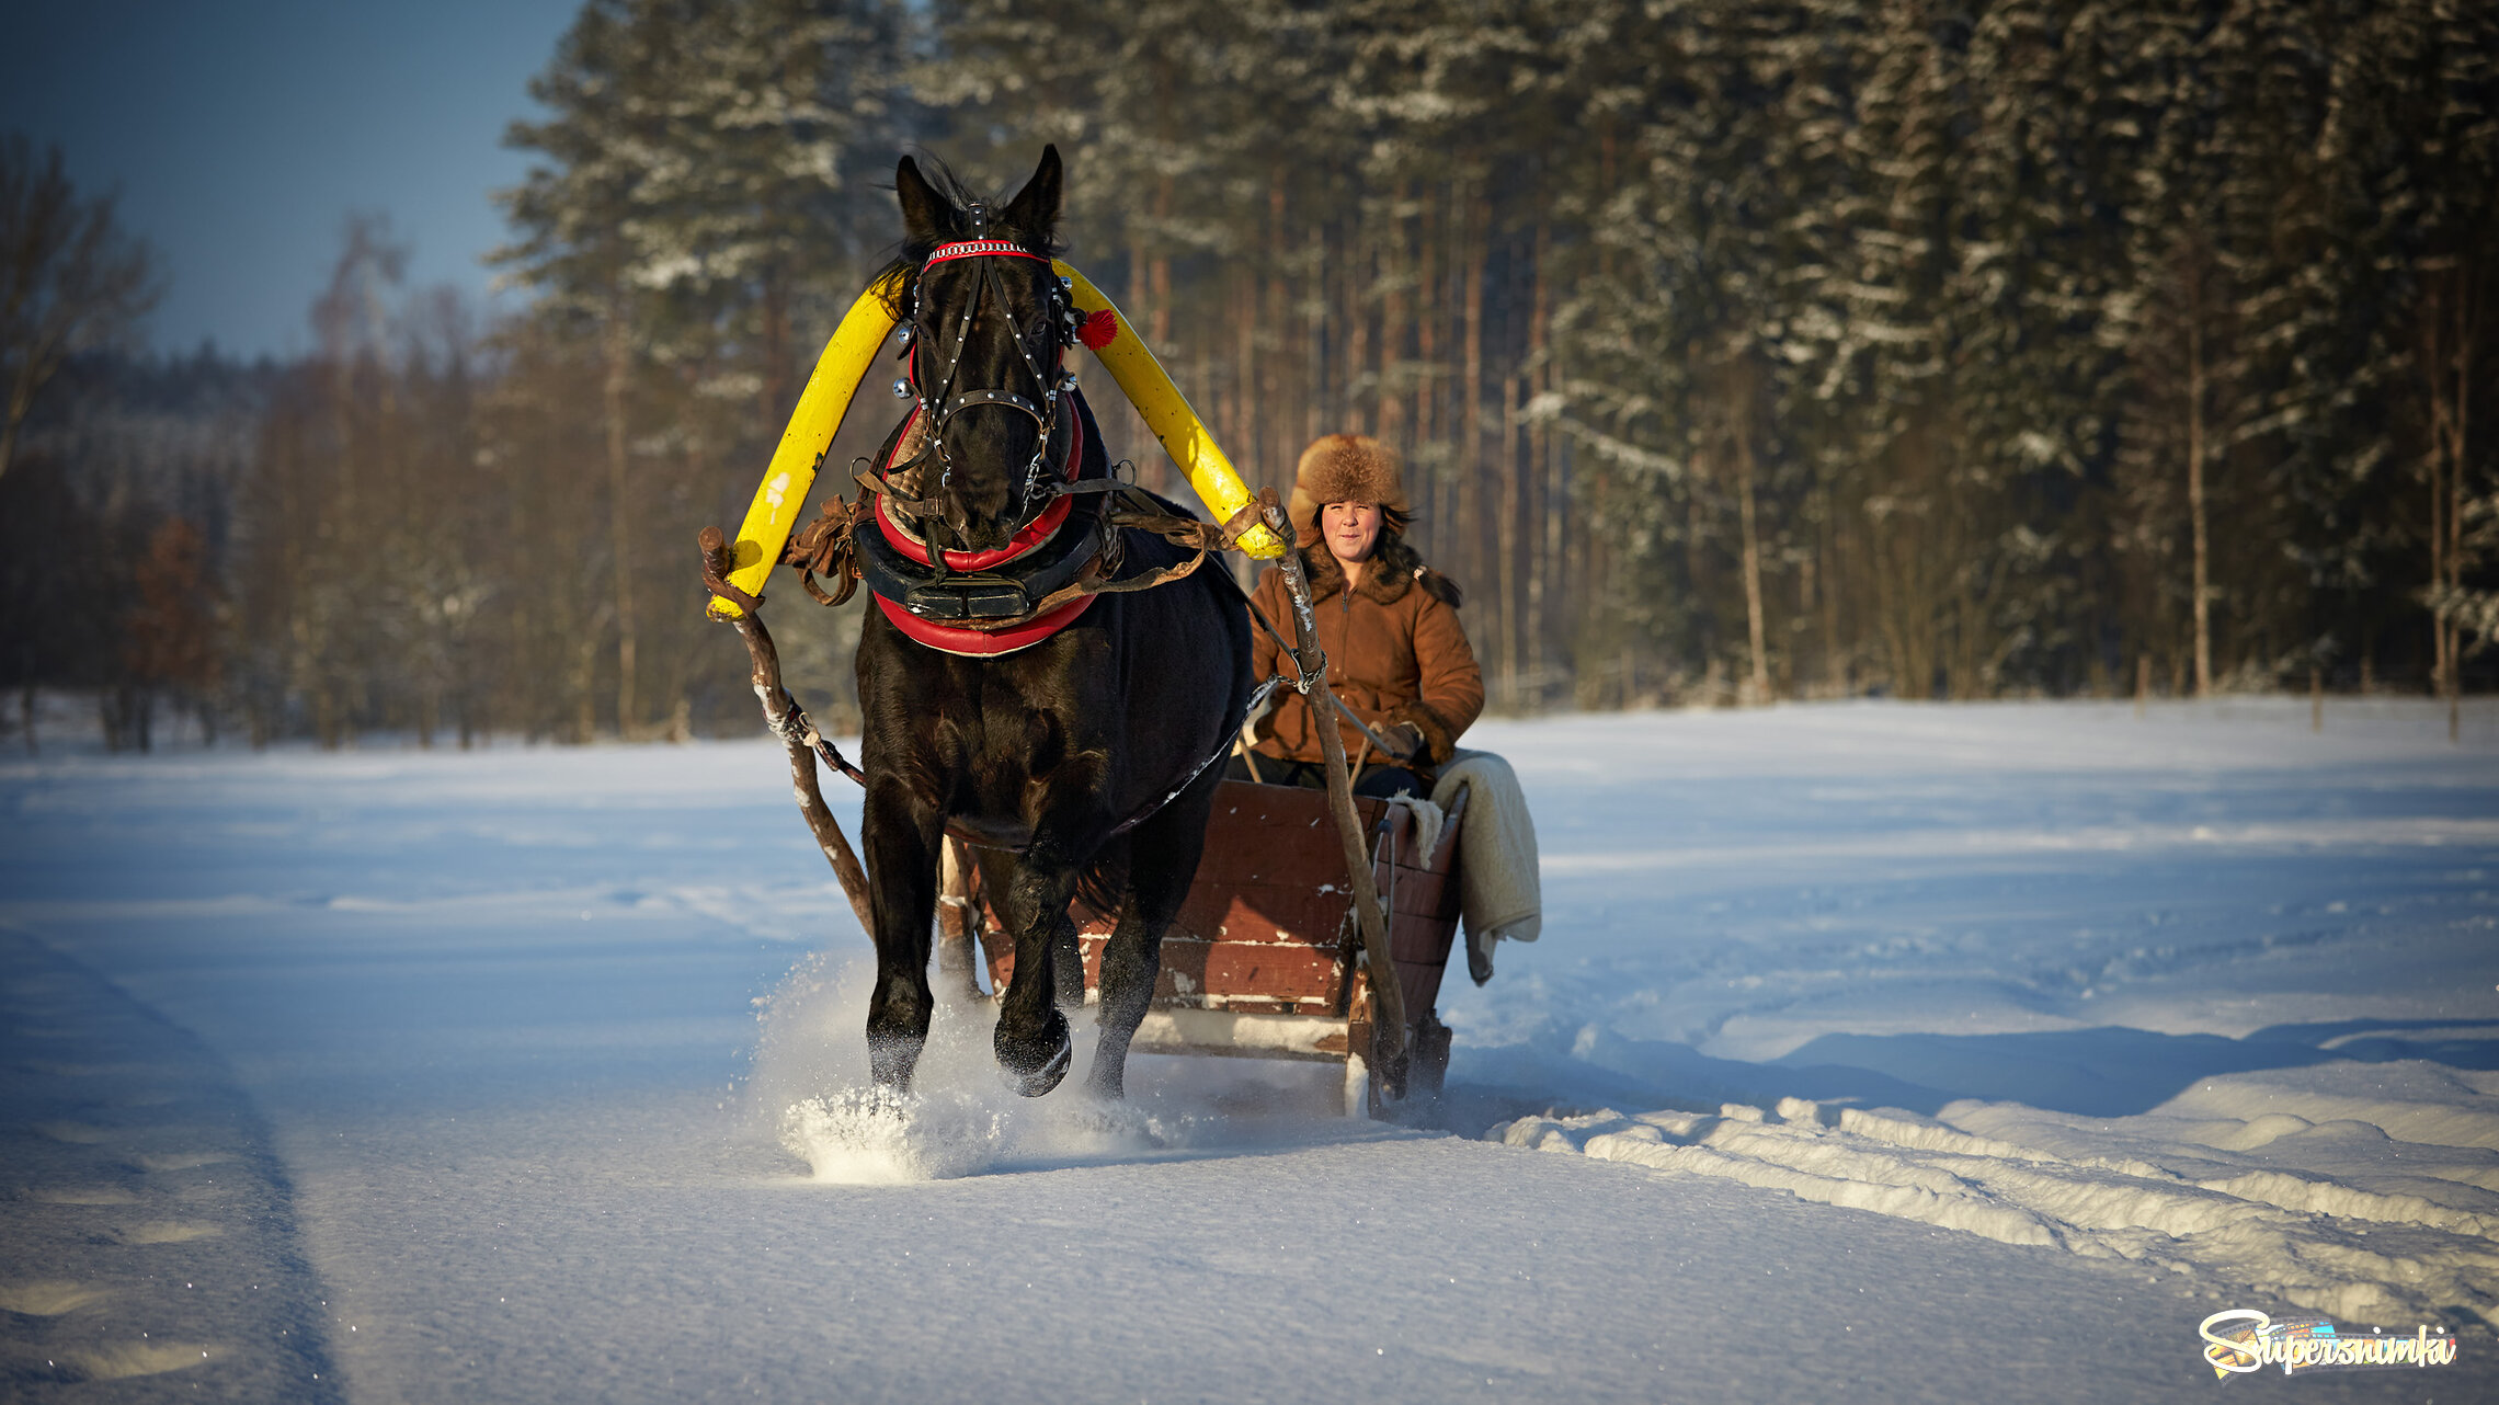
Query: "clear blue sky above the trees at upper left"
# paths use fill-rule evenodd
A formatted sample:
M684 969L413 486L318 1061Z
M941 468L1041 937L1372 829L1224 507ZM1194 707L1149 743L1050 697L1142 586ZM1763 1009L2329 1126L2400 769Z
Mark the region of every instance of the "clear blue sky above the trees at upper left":
M390 215L410 282L485 300L490 190L580 0L0 0L0 128L120 190L157 248L150 342L290 355L355 210Z

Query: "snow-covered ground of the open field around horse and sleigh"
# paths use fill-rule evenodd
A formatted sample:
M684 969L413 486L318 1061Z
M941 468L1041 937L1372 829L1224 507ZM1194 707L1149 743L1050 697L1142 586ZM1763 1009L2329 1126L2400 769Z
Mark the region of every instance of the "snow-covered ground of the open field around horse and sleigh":
M2222 1308L2499 1392L2487 705L1469 745L1547 935L1429 1125L950 1008L905 1135L775 748L0 762L0 1395L2142 1400Z

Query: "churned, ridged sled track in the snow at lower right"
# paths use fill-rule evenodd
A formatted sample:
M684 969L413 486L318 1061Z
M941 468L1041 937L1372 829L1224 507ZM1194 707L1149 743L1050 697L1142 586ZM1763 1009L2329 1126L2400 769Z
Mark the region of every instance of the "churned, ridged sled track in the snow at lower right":
M2247 1102L2247 1088L2234 1092ZM2139 1262L2194 1275L2214 1292L2267 1292L2347 1322L2472 1315L2499 1325L2499 1218L2277 1170L2247 1155L2319 1135L2389 1145L2374 1125L2279 1110L2249 1120L2092 1122L2102 1145L2112 1142L2112 1122L2132 1130L2119 1145L2137 1155L2057 1155L2009 1140L2074 1122L2082 1120L2002 1102L1954 1102L1942 1118L1919 1118L1784 1098L1767 1112L1727 1102L1717 1112L1517 1118L1484 1138L1787 1190L2007 1245ZM2444 1172L2457 1188L2499 1178L2492 1148L2407 1145L2404 1152L2417 1172Z

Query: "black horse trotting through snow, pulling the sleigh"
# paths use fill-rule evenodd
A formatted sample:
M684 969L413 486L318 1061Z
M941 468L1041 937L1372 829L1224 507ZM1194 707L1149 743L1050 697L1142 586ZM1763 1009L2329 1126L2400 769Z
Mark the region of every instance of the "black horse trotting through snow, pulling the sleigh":
M1030 538L1072 435L1082 435L1077 478L1107 475L1102 438L1060 368L1077 325L1047 262L1060 175L1050 148L1015 200L992 210L942 168L935 185L912 158L895 170L907 228L897 310L917 340L915 420L925 422L912 440L925 442L910 472L895 468L887 500L905 502L927 548L995 552L1020 530ZM980 252L992 248L1010 252ZM897 428L880 462L895 460L902 435ZM905 478L912 492L895 488ZM1097 530L1122 578L1185 560L1157 535L1107 525L1105 500L1070 498L1057 532ZM1100 595L1042 642L997 658L930 648L872 602L857 670L877 1082L905 1088L927 1040L937 852L952 830L985 845L985 888L1015 938L995 1042L1010 1085L1027 1098L1065 1078L1060 1005L1085 998L1070 900L1080 882L1090 898L1117 895L1090 1085L1120 1098L1127 1045L1162 970L1162 932L1205 848L1222 778L1207 760L1240 728L1250 695L1240 598L1220 570Z

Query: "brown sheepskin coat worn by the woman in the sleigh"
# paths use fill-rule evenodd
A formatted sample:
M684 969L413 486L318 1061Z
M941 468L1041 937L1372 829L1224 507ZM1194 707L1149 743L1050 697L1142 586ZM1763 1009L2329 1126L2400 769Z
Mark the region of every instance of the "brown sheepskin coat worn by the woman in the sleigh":
M1309 575L1319 618L1319 648L1327 650L1327 685L1382 735L1412 722L1424 740L1414 765L1447 762L1459 732L1484 710L1484 670L1477 668L1467 630L1457 622L1457 588L1387 530L1362 570L1362 585L1352 592L1344 590L1344 568L1327 548L1304 550L1302 570ZM1292 600L1284 595L1284 572L1269 568L1252 600L1289 640ZM1252 630L1250 640L1257 650L1252 678L1269 672L1292 678L1292 662L1267 630ZM1274 710L1257 725L1254 750L1262 758L1319 760L1309 700L1292 690L1277 690L1274 698ZM1344 760L1362 755L1367 745L1362 732L1339 722L1337 735L1344 738ZM1369 748L1367 760L1379 765L1389 758Z

